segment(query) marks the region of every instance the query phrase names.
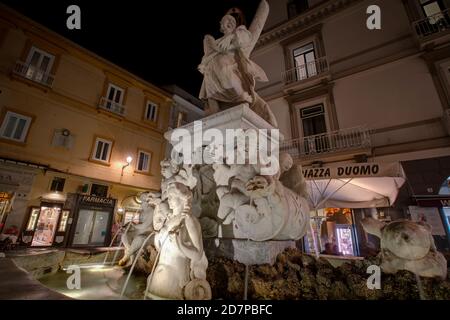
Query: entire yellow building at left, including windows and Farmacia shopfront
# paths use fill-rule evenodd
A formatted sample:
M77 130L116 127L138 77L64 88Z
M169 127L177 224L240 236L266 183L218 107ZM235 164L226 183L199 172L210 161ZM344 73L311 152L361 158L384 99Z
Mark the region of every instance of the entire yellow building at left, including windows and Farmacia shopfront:
M31 246L105 246L159 190L171 95L2 6L0 216Z

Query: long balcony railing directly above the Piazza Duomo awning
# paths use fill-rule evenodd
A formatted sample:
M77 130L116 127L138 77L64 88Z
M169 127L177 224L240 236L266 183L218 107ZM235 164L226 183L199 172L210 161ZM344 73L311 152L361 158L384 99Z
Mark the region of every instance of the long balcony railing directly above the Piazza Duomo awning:
M370 146L369 130L360 126L284 141L281 144L280 152L287 152L293 158L298 158L370 148Z

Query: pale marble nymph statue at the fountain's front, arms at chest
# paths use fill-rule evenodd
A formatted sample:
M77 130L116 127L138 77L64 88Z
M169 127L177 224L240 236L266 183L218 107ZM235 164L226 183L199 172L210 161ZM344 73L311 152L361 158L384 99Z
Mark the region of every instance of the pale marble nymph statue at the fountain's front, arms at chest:
M159 259L147 280L148 295L154 299L211 299L202 230L191 213L192 192L173 182L167 194L171 212L155 236Z

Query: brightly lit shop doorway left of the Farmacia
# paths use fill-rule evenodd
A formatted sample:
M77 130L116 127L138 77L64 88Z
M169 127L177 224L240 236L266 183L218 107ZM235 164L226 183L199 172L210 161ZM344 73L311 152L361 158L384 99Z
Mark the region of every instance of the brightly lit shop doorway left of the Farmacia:
M31 246L51 246L53 244L53 239L55 238L56 226L58 225L59 217L61 215L61 206L42 205L38 215L39 217L35 216L37 223L35 224L36 229L34 230Z

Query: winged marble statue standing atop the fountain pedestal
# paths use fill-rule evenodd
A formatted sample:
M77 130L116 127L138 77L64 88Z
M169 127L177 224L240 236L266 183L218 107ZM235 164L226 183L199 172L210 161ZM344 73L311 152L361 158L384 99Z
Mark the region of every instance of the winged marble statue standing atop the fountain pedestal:
M269 14L262 0L249 29L237 26L236 19L225 15L220 21L219 39L206 35L204 56L198 69L203 74L200 99L206 100L206 113L213 114L242 103L274 127L278 127L268 104L255 92L255 81L268 81L261 67L249 59Z

